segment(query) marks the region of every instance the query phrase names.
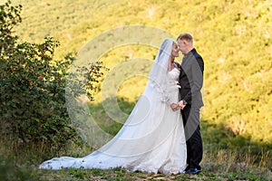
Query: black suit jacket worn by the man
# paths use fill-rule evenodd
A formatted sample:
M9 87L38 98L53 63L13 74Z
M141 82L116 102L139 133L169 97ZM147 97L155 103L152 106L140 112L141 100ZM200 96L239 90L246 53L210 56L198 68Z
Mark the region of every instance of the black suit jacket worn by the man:
M203 86L204 62L202 57L192 49L184 55L180 69L180 100L186 100L191 107L202 107L201 88Z

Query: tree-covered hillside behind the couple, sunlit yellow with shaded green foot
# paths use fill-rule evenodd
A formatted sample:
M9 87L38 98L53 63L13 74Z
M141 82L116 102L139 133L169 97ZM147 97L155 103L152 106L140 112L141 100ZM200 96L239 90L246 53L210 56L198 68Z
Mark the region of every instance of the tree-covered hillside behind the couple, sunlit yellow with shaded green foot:
M0 5L5 2L6 0L1 1ZM100 89L94 95L94 101L89 102L89 108L97 123L111 135L121 128L120 123L127 118L141 96L147 82L146 76L151 70L151 61L163 37L170 34L175 38L183 32L192 33L195 47L205 62L203 88L205 106L201 117L205 154L202 164L206 171L223 173L216 176L205 174L202 178L219 176L235 180L238 176L244 180L257 180L254 177L251 179L251 175L248 175L250 177L248 178L247 174L243 174L252 171L239 165L243 163L257 166L257 171L252 171L257 175L264 171L271 176L271 1L14 0L12 2L13 5L23 5L21 14L23 22L15 27L15 34L19 36L19 40L42 43L44 37L53 36L61 43L54 53L55 61L63 59L68 52L83 51L83 46L90 42L94 43L93 47L97 49L98 55L99 51L102 52L99 61L102 61L110 71L105 72L104 80L99 82ZM140 29L131 33L126 31L131 27L132 30L135 30L135 27ZM144 31L148 29L153 32L144 37L144 34L148 34ZM120 42L116 41L116 37ZM125 43L128 39L132 43ZM96 57L97 54L89 55ZM89 59L88 56L84 58ZM91 61L95 60L90 58ZM176 61L181 62L181 57ZM108 87L104 86L104 82L109 83ZM105 112L106 110L114 112L116 106L103 108L103 102L114 99L114 96L117 96L118 105L125 113L117 118L117 122L112 121L111 115ZM76 146L72 144L71 147ZM90 153L89 148L82 150L80 147L68 153L74 157ZM8 151L12 153L12 150ZM28 157L33 154L28 154ZM38 157L38 161L34 159L29 162L37 164L42 159L39 154L43 155L38 153L35 156ZM27 159L27 156L22 157L20 161L24 162L24 159ZM237 162L237 166L232 162ZM262 168L261 171L258 170L259 167ZM108 176L116 173L118 176L129 175L121 170L116 171L102 173L92 170L91 175ZM225 172L231 171L238 171L238 174L224 176ZM84 177L88 174L88 171L69 170L72 177ZM58 176L56 174L56 177ZM177 179L179 178L190 179L182 176Z

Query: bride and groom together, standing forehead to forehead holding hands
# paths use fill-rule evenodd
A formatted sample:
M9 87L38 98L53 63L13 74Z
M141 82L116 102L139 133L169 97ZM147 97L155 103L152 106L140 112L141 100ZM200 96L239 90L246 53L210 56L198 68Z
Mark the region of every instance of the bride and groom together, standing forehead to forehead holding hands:
M174 62L183 54L180 63ZM117 135L86 157L54 157L39 167L122 167L128 171L199 174L203 148L199 109L204 62L189 33L165 39L149 81Z

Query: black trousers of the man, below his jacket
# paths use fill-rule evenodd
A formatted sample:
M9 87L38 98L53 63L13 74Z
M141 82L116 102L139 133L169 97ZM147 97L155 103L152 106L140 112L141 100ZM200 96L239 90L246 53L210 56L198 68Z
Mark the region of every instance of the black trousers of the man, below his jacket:
M200 170L199 163L203 156L203 145L199 127L199 108L186 105L184 110L181 110L181 114L186 138L188 168Z

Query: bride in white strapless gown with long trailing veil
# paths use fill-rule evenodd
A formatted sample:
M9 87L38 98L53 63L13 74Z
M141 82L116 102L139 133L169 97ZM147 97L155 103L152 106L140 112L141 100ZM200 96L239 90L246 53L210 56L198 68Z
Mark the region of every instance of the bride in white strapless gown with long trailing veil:
M128 171L179 174L186 167L186 139L179 101L180 68L174 62L178 45L165 39L160 45L147 86L117 135L86 157L54 157L44 169L122 167Z

